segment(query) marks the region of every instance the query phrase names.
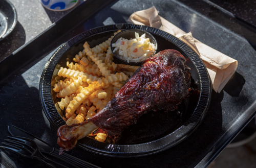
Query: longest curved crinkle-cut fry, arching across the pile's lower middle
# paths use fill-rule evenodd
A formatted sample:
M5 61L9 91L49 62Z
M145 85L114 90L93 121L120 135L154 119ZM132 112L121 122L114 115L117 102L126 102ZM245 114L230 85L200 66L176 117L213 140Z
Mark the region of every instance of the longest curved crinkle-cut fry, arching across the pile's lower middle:
M83 88L79 94L70 102L66 110L66 117L69 118L76 110L78 106L82 104L82 102L88 99L89 95L91 95L94 91L101 89L106 85L110 85L114 82L126 81L129 79L123 73L111 74L110 76L99 79L97 82L94 81L88 87Z

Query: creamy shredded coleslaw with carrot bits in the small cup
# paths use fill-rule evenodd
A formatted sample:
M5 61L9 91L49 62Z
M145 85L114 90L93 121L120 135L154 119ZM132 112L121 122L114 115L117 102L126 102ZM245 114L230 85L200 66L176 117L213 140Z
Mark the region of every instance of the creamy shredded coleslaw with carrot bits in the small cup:
M113 53L118 51L120 58L128 63L129 61L144 61L151 57L156 50L155 44L151 43L149 38L146 38L146 34L140 37L139 33L136 32L134 39L127 40L121 37L112 44L112 47L115 47Z

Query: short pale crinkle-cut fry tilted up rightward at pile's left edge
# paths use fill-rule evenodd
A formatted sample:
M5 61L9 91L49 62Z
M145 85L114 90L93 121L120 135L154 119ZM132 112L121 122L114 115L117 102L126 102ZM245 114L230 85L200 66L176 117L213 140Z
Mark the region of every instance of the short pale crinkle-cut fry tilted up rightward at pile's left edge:
M79 77L78 79L76 79L72 83L70 83L66 88L63 88L59 93L57 93L57 97L65 98L66 95L70 95L70 94L76 92L78 90L78 88L82 85L82 83L83 83L83 80L81 77Z

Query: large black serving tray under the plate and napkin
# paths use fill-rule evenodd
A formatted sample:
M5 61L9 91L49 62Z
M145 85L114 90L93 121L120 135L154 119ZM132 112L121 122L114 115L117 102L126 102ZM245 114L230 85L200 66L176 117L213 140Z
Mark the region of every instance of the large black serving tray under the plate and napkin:
M38 88L45 63L63 42L112 22L126 23L135 11L154 5L159 14L214 49L238 60L238 69L212 100L202 124L187 139L166 151L138 158L113 158L76 148L69 154L101 167L207 167L255 115L256 29L208 1L87 0L30 43L0 63L0 141L13 124L56 144L56 130L40 107ZM110 19L109 19L110 20ZM1 163L44 167L1 151ZM7 161L6 161L7 160Z

